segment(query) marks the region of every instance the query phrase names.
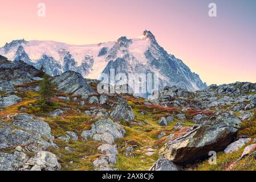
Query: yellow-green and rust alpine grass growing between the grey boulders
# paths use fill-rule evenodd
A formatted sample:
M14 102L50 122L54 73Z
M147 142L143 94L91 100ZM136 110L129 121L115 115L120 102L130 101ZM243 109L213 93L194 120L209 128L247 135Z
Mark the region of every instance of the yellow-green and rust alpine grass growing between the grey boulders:
M28 85L22 86L33 86L38 84L38 82L31 82ZM17 88L18 90L18 88ZM4 93L2 93L4 94ZM62 164L62 170L93 170L92 162L100 156L97 147L101 145L100 142L95 142L93 140L88 140L82 142L79 137L78 141L71 141L70 143L63 142L63 140L56 139L58 137L64 136L65 131L74 131L80 136L83 130L88 130L91 124L95 122L95 119L83 114L84 110L89 109L90 105L86 101L86 106L82 107L76 102L68 102L59 100L56 96L68 96L64 93L56 92L55 97L52 98L54 105L47 108L47 111L43 111L40 108L39 94L36 92L21 92L18 90L18 94L23 98L22 102L17 105L7 107L0 111L0 118L4 121L6 120L6 115L12 113L22 113L21 108L25 109L26 113L41 117L44 121L48 122L52 135L54 135L54 142L58 144L59 149L49 148L48 150L56 154ZM71 96L70 96L71 97ZM166 117L168 115L177 113L177 108L165 108L160 106L146 106L144 105L143 99L136 99L131 96L124 96L128 100L128 104L132 106L135 113L136 119L133 123L125 123L120 121L121 125L125 127L125 137L116 141L119 156L116 164L116 168L119 170L148 170L152 164L159 158L158 151L159 148L164 144L162 139L157 139L157 136L164 131L166 134L171 132L173 126L178 122L177 118L174 118L173 123L169 123L167 127L161 127L158 125L159 118ZM113 98L110 98L111 100ZM103 106L105 109L109 110L108 106ZM64 109L67 111L62 117L48 117L48 112L55 109ZM80 110L80 111L79 111ZM140 114L144 111L144 115ZM191 114L191 113L185 113ZM192 113L193 114L193 113ZM119 121L116 121L119 122ZM136 125L135 123L140 123ZM191 119L182 123L184 126L193 126ZM239 134L249 134L249 137L256 137L256 118L254 121L246 121L242 123L242 129ZM176 134L176 133L174 133ZM136 145L136 149L133 152L134 158L125 156L125 148L127 146ZM67 151L65 147L71 147L72 151ZM152 156L145 155L147 148L154 148L156 150L155 154ZM244 148L244 147L243 147ZM237 152L232 154L219 153L217 156L217 165L209 165L208 161L202 162L196 170L225 170L231 163L241 156L241 148ZM13 151L12 148L6 149L8 151ZM31 155L31 154L29 154ZM70 163L72 161L72 163ZM237 170L253 170L255 169L255 159L245 158L241 160L233 169Z

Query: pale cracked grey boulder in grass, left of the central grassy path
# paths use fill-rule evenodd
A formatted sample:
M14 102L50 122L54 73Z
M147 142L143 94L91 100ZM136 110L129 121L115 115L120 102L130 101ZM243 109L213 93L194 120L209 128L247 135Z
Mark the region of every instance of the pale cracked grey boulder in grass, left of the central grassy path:
M125 134L124 127L109 118L100 119L91 127L91 130L83 131L81 135L83 140L92 138L96 141L112 144L116 139L124 137Z

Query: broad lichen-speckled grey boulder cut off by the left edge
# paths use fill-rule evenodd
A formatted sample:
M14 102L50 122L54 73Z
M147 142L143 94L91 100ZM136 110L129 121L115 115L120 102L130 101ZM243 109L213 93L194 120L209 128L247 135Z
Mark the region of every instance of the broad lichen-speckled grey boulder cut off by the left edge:
M29 114L9 116L10 123L0 121L0 149L26 146L30 151L57 147L48 123Z

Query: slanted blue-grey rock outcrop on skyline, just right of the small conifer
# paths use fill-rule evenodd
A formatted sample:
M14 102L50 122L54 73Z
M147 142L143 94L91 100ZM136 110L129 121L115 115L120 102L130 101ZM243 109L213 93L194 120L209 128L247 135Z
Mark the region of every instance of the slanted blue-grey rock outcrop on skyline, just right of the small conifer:
M62 75L56 76L52 82L57 85L57 89L60 92L76 95L94 93L94 90L87 84L83 76L73 71L64 72Z

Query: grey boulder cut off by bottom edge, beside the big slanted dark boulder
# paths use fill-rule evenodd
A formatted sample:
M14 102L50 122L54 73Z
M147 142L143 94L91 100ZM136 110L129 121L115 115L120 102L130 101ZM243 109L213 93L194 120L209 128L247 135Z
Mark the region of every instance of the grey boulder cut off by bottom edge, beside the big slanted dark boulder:
M151 167L150 171L181 171L180 167L172 161L160 157Z

